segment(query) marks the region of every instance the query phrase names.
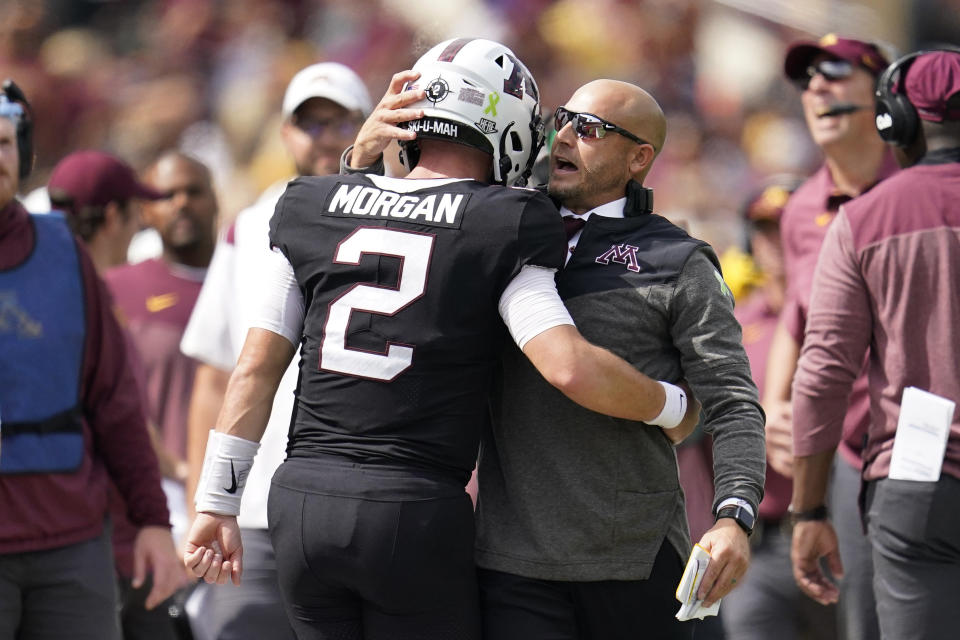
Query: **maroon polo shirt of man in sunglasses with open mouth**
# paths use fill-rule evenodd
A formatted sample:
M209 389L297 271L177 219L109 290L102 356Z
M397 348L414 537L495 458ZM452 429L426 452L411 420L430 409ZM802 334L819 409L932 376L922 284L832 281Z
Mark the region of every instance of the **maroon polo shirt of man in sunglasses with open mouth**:
M893 155L887 153L877 179L883 180L896 171L897 163ZM784 207L783 216L780 219L780 236L783 241L783 259L788 286L781 318L787 331L798 344L803 344L804 340L813 272L823 239L840 206L850 200L850 196L837 190L830 170L824 164L800 185ZM866 362L864 362L861 376L850 393L843 442L840 445L840 454L849 464L858 469L862 466L860 453L870 420L869 414L870 401L867 394Z

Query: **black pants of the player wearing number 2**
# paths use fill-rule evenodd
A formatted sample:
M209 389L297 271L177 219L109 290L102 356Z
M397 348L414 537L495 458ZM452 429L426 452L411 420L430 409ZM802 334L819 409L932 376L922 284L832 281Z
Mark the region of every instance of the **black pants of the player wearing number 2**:
M344 458L290 459L268 506L300 640L479 640L473 505L462 483Z

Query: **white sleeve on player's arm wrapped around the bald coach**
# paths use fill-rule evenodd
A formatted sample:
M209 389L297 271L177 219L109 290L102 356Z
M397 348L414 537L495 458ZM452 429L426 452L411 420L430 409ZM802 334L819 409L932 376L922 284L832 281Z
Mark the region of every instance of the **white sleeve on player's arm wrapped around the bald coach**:
M547 329L573 324L557 293L554 273L556 269L526 265L500 296L500 317L521 349Z

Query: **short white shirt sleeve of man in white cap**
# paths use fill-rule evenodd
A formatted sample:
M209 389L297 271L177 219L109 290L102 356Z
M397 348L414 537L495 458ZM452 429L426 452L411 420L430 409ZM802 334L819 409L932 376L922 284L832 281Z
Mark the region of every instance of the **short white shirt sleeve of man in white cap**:
M203 279L203 287L180 340L180 351L197 360L231 370L237 364L230 323L236 313L231 303L236 246L220 240Z

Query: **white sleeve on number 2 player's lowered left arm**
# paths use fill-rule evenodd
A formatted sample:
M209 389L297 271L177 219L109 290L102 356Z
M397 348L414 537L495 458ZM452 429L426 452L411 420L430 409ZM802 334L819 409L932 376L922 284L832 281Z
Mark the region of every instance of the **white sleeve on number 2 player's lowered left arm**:
M298 347L303 334L304 303L293 267L279 249L264 254L263 269L251 283L256 296L251 327L279 334Z

